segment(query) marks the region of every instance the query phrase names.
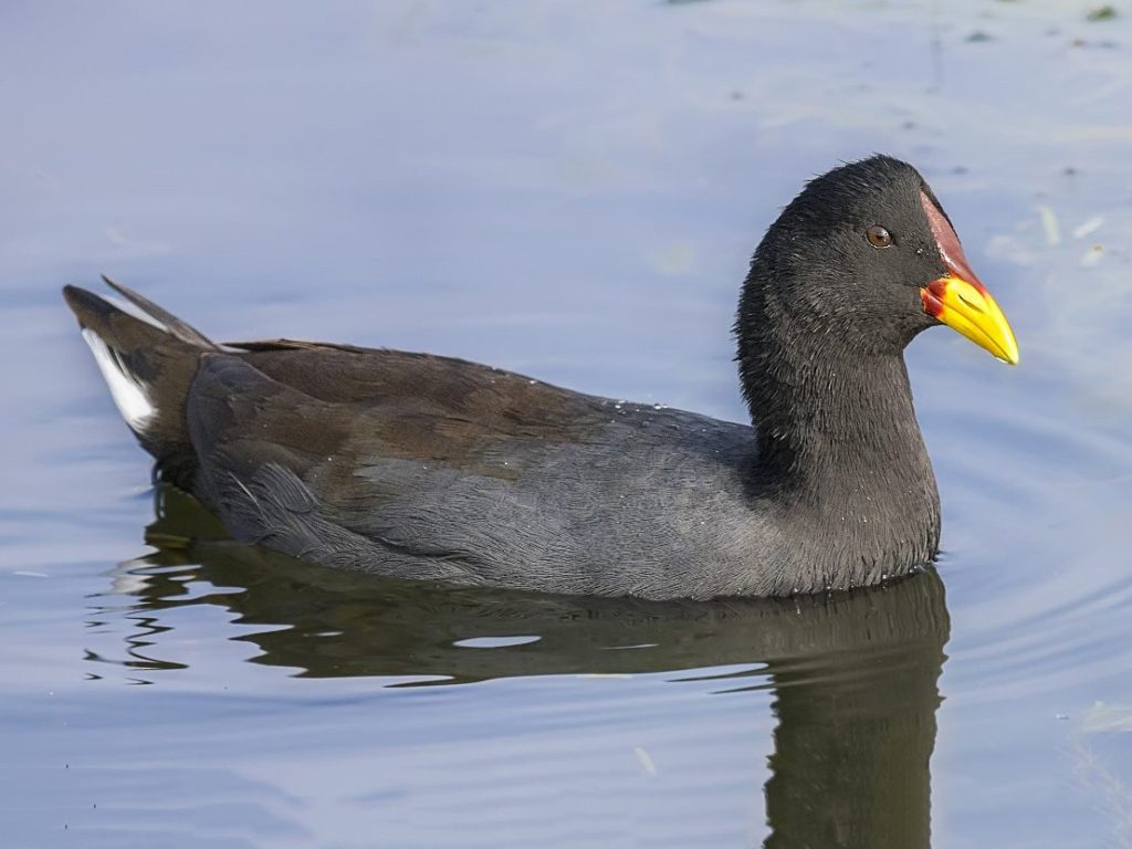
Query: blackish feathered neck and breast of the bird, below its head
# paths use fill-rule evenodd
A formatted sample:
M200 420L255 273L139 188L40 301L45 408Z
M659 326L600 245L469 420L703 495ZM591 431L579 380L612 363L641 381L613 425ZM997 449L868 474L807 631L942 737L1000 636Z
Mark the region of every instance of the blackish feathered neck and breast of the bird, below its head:
M838 351L821 337L746 353L756 354L740 359L754 479L784 533L813 543L797 552L813 563L806 589L876 583L931 560L940 497L903 357Z

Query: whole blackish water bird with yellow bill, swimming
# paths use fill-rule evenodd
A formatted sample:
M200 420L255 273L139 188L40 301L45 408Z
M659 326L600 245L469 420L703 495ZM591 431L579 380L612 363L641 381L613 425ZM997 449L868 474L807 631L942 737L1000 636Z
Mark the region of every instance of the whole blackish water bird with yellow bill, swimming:
M65 294L157 474L239 540L325 566L650 599L875 584L929 563L940 499L904 346L947 324L1018 362L938 200L886 156L771 225L735 333L753 426L463 360L217 344L142 295Z

